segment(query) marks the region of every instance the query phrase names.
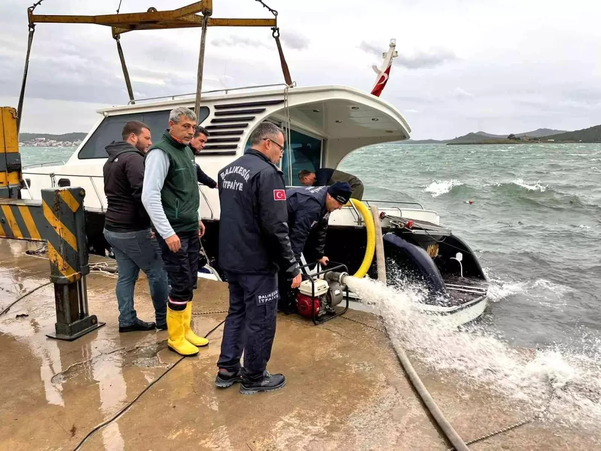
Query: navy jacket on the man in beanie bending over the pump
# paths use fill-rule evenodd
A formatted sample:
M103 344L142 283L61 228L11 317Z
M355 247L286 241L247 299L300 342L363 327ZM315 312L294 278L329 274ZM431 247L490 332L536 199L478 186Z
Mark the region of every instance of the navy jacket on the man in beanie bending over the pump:
M323 257L330 216L326 209L327 194L327 186L307 186L286 191L290 244L297 262L301 262L302 250L312 230L317 234L317 259Z

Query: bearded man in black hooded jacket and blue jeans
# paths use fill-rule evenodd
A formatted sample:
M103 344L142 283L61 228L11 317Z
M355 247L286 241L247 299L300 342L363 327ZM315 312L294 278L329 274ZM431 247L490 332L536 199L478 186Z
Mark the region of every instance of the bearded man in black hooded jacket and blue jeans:
M144 155L152 144L150 129L142 122L130 121L123 127L121 136L123 141L113 141L106 146L109 159L103 167L108 200L103 233L115 253L119 269L115 290L119 331L165 330L167 275L159 245L151 235L150 218L141 201ZM156 324L138 319L133 308L133 290L140 269L148 278Z

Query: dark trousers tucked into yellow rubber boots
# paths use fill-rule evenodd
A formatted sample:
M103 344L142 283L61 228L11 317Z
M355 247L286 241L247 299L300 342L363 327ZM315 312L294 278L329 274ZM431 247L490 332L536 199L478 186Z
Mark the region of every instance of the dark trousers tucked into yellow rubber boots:
M172 310L185 310L186 303L192 301L198 277L198 252L200 239L198 230L177 233L182 247L171 252L165 240L156 234L160 251L169 279L169 307Z

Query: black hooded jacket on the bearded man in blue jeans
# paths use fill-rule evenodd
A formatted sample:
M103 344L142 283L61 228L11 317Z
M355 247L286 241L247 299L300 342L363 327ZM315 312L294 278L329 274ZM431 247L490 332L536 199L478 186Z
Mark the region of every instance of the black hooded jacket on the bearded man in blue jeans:
M108 201L105 228L111 232L136 232L150 228L150 218L142 205L144 153L125 141L105 147L109 159L103 167Z

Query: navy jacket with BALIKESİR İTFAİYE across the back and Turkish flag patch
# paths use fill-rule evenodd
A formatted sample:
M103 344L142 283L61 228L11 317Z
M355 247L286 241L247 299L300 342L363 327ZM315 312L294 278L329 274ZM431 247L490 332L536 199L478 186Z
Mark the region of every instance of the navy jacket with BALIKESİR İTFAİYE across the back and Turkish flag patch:
M271 274L301 272L288 238L284 174L254 149L218 176L219 265L225 271Z

